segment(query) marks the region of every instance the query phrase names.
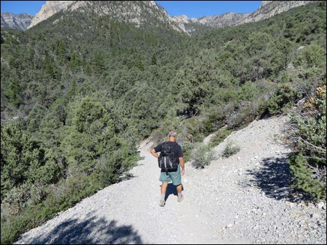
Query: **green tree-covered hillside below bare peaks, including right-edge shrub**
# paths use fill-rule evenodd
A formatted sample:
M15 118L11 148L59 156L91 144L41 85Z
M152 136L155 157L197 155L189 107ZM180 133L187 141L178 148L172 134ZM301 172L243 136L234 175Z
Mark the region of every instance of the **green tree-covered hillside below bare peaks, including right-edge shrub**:
M1 244L119 181L145 137L175 128L187 160L298 101L295 185L326 198L326 1L191 37L151 23L59 12L1 28Z

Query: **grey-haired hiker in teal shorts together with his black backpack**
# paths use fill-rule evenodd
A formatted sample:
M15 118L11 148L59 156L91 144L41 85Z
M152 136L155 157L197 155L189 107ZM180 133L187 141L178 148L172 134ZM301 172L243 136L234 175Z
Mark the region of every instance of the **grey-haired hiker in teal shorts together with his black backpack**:
M169 140L168 142L164 142L163 144L159 144L158 146L151 149L151 154L154 155L154 157L158 158L159 160L159 167L161 167L161 173L159 181L162 182L161 184L161 199L159 201L159 205L163 207L166 203L165 196L167 191L168 183L171 181L173 182L173 185L176 186L177 189L177 201L181 202L184 199L184 196L182 196L182 175L185 173L184 169L184 158L183 158L183 151L182 147L176 143L177 139L177 133L175 131L170 131L168 134ZM160 155L158 155L157 152L160 152ZM163 160L165 158L165 153L167 153L168 157L167 162L170 162L170 160L173 163L174 167L168 167L166 166L166 160ZM163 167L160 162L164 161L165 167ZM167 164L168 165L168 164Z

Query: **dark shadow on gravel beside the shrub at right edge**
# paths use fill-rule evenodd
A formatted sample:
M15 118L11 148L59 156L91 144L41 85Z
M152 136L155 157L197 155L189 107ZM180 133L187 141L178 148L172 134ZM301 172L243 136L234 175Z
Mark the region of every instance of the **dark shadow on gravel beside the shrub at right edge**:
M245 186L257 186L270 198L291 202L310 201L310 197L294 189L292 174L287 164L287 155L281 158L264 158L260 169L248 170L246 174L253 176Z

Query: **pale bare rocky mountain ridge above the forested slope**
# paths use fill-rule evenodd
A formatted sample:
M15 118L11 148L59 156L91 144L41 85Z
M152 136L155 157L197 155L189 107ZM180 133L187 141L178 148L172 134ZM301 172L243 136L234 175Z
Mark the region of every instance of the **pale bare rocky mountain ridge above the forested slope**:
M110 15L113 19L130 22L137 27L148 24L148 16L143 13L147 12L152 17L156 17L159 22L166 23L169 28L179 31L180 33L192 35L193 33L205 31L207 28L221 28L225 26L237 26L248 22L257 22L262 19L273 17L280 12L285 12L289 9L312 2L313 1L262 1L260 8L250 13L225 12L221 15L189 18L186 15L172 17L155 1L46 1L39 12L30 20L30 24L13 25L10 23L15 21L10 20L6 23L5 19L2 17L3 13L1 13L1 26L25 31L55 15L57 12L71 12L77 10L85 13L89 8L98 15Z

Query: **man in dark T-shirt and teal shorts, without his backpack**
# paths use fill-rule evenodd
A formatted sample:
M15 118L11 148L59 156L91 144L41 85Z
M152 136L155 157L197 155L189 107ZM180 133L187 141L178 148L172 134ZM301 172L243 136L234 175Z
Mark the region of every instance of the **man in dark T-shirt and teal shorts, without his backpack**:
M159 205L163 207L166 203L165 196L167 191L168 183L171 181L173 182L173 185L176 186L178 198L177 201L181 202L184 199L184 196L182 196L182 176L185 173L185 166L184 166L184 158L183 158L183 151L182 147L176 143L177 139L177 133L175 131L169 132L169 140L168 142L164 142L163 144L159 144L158 146L151 149L151 154L154 155L154 157L159 158L159 155L157 152L163 151L163 148L168 146L169 149L173 152L173 155L178 158L179 163L177 166L177 171L166 171L164 169L161 169L160 178L159 181L161 181L161 199L159 202Z

